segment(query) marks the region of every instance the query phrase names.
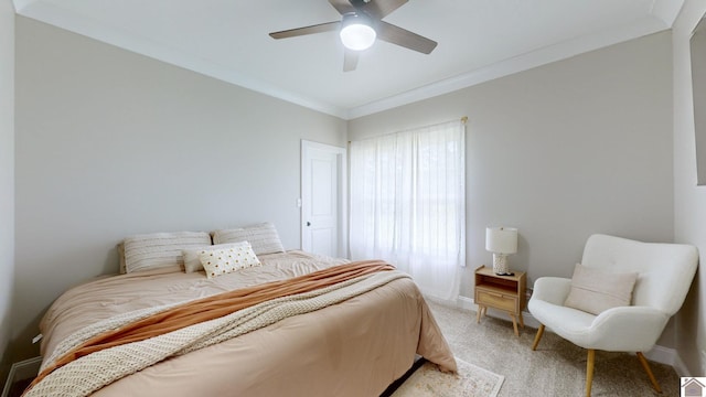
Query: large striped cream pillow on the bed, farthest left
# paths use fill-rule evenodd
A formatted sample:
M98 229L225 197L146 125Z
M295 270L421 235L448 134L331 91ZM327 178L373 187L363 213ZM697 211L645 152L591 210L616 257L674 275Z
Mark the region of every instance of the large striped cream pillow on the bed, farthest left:
M183 265L182 249L211 245L211 236L205 232L152 233L128 237L122 245L125 271L133 272Z

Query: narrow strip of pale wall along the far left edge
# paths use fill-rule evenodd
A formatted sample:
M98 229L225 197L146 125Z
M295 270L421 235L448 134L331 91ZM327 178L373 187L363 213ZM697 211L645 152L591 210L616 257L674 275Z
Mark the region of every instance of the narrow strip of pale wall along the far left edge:
M0 388L7 378L14 272L14 8L0 1Z

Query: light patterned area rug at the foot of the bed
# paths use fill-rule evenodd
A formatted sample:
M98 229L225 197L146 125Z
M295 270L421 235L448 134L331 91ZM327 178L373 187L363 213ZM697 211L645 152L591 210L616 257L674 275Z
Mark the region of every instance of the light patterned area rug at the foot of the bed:
M496 397L504 376L456 358L458 374L446 374L425 363L392 397Z

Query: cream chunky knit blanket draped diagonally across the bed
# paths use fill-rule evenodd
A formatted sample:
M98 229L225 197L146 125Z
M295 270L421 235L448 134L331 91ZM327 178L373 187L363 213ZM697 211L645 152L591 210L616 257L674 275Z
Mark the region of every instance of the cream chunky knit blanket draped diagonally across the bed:
M24 396L87 396L113 382L168 357L214 345L288 316L312 312L342 302L400 278L408 278L408 276L397 270L361 276L314 291L263 302L220 319L145 341L106 348L55 369ZM62 342L51 358L44 363L43 368L92 336L164 311L173 305L139 310L88 325Z

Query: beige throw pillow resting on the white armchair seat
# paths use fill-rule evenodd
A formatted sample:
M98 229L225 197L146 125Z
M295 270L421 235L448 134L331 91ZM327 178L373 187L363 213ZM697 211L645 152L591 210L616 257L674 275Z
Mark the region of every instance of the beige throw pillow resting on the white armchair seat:
M637 272L610 272L576 264L564 305L598 315L610 308L630 305Z

